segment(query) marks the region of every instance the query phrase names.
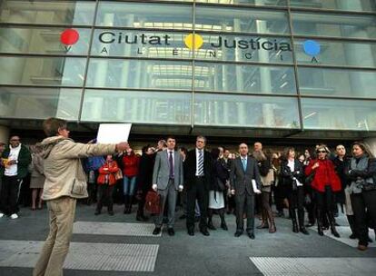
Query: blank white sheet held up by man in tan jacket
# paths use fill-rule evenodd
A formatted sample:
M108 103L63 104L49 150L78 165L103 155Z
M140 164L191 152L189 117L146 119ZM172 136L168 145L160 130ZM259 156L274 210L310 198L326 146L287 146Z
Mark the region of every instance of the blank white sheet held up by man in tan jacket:
M132 123L101 123L99 124L96 143L127 142L131 127Z

